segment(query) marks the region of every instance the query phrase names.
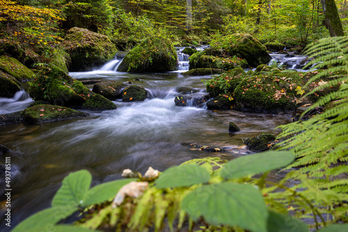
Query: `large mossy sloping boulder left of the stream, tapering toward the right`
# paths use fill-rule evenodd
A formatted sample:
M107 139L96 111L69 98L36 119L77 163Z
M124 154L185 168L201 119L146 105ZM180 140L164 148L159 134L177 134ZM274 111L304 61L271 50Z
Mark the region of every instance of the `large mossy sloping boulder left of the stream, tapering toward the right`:
M84 87L55 65L42 67L30 85L29 94L35 101L53 105L71 106L87 110L113 110L115 103Z

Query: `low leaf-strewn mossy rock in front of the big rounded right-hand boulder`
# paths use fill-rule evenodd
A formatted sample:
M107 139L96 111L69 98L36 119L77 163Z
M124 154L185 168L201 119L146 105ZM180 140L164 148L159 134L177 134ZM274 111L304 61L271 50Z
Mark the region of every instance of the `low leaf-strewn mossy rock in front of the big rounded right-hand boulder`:
M247 67L246 60L242 58L223 58L217 56L207 56L204 51L194 53L189 59L189 69L214 68L230 70L235 67Z

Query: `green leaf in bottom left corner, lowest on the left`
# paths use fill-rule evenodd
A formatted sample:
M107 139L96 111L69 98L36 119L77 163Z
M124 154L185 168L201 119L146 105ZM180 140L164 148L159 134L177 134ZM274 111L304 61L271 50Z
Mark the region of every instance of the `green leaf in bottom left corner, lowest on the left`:
M74 206L47 208L26 218L23 222L18 224L13 231L48 231L49 229L52 229L54 224L61 221L61 219L70 216L76 210L77 208Z

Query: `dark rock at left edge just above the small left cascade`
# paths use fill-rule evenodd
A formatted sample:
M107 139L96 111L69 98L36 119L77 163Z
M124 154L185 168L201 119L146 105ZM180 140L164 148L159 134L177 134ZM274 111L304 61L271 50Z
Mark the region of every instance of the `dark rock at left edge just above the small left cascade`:
M22 86L16 78L0 71L0 97L13 97L19 90Z

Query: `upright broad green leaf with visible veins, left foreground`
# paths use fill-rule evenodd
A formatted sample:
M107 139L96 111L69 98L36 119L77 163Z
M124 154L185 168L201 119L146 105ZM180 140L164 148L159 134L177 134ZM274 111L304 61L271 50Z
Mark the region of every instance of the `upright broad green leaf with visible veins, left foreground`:
M87 170L72 172L63 180L61 188L56 192L52 200L55 206L79 206L84 203L92 176Z

